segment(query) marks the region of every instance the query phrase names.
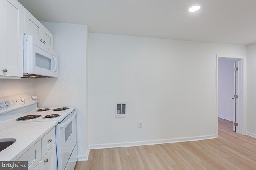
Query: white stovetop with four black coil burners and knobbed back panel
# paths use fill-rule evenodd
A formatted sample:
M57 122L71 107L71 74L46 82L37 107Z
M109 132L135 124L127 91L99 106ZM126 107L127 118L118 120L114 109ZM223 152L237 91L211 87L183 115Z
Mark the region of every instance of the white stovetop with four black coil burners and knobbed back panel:
M18 94L0 98L0 123L57 121L65 119L75 107L38 108L38 97Z

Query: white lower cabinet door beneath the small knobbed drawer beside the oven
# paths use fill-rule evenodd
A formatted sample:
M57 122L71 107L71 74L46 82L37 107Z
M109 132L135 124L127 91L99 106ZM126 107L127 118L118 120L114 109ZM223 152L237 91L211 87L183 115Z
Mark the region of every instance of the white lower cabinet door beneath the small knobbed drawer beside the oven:
M56 145L42 158L42 170L56 170Z

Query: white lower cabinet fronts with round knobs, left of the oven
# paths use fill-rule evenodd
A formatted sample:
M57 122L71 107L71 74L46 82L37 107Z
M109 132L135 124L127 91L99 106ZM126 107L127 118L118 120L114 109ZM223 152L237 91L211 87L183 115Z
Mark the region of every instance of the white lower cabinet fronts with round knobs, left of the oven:
M56 170L55 127L17 160L28 161L28 170Z

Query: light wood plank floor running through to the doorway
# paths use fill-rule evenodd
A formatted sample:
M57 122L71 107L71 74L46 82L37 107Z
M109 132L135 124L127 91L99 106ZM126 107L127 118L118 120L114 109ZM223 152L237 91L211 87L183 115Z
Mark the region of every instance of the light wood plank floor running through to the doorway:
M256 170L256 139L219 119L218 139L90 150L75 170Z

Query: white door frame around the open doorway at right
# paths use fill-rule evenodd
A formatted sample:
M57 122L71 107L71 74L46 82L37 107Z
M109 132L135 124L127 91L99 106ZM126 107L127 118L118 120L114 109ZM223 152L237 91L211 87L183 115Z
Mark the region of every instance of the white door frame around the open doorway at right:
M219 59L237 60L238 64L238 99L236 118L238 127L237 133L246 134L246 57L244 56L226 56L216 55L216 137L218 137L218 93L219 93ZM231 97L231 96L230 96Z

